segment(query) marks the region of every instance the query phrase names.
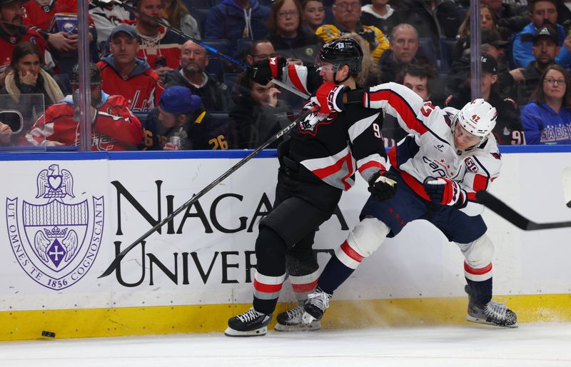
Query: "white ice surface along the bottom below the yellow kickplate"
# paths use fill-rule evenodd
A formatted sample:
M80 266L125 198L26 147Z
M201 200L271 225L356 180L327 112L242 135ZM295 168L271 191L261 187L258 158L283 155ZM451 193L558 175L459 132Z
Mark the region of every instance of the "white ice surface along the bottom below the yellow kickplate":
M571 323L0 343L2 367L571 366Z

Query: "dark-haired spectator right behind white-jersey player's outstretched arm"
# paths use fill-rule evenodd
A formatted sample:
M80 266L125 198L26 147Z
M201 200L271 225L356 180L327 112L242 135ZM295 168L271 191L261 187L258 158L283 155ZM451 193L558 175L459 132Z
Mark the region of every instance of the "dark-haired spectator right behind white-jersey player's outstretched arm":
M436 69L428 64L406 65L396 76L398 84L412 89L423 101L430 101L433 94L438 94L438 79ZM442 99L440 96L439 100ZM433 102L433 104L435 104ZM383 143L385 148L395 146L398 141L407 136L408 133L400 127L395 116L385 114L383 118Z

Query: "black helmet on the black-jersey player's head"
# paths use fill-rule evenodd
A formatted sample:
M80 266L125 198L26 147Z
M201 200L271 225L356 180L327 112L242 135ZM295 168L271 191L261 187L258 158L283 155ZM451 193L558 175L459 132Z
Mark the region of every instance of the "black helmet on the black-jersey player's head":
M328 61L335 66L335 72L343 65L349 66L349 74L356 76L361 71L363 50L354 39L333 39L321 46L318 59Z

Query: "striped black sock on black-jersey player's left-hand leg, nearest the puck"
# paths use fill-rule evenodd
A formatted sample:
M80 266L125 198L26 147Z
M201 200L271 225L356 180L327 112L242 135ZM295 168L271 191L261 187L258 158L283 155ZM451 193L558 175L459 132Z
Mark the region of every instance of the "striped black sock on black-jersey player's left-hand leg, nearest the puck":
M262 227L256 239L256 276L254 276L254 309L273 313L285 280L287 246L278 233Z

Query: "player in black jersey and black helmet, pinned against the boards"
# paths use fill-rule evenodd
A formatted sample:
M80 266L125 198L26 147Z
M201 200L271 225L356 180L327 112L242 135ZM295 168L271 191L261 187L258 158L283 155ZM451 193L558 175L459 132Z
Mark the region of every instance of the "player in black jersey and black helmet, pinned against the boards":
M385 169L382 115L359 104L346 106L342 113L333 111L343 104L343 91L356 88L362 58L363 51L353 39L335 39L320 49L319 75L324 84L332 85L326 96L328 106L322 104L320 111L300 121L290 139L278 146L276 202L260 222L256 239L253 307L228 320L226 336L267 333L286 270L296 293L305 297L313 290L318 279L312 250L315 231L333 214L341 193L353 186L355 171L369 182L373 195L390 198L395 194L393 175ZM273 58L266 68L258 66L252 74L261 84L273 77L307 92L305 66L285 65L285 60ZM310 101L306 108L314 105ZM278 325L283 330L301 326L301 314L303 308L280 314ZM318 323L313 325L318 327Z

